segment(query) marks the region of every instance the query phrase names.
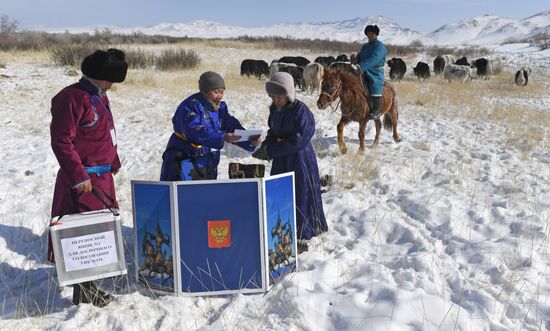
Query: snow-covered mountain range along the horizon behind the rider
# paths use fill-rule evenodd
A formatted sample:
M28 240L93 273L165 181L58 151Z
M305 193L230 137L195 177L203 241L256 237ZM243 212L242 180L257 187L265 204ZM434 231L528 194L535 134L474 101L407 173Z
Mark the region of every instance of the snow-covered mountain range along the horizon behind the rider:
M403 28L384 16L358 17L350 20L320 23L280 23L264 27L239 27L205 20L188 23L159 23L148 27L88 26L74 28L28 27L32 30L73 33L109 29L117 33L142 32L172 37L233 38L243 35L291 36L298 39L330 39L363 42L363 29L367 24L380 27L381 39L388 44L404 45L413 40L441 45L488 45L507 40L530 38L550 30L550 10L516 20L495 15L481 15L446 24L435 31L420 33Z

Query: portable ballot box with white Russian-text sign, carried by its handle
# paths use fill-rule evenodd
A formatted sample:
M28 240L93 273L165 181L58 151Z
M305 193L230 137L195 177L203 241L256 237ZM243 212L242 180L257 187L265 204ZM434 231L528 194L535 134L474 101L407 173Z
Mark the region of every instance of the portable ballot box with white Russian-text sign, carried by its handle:
M121 218L105 209L65 215L50 227L59 285L124 275Z

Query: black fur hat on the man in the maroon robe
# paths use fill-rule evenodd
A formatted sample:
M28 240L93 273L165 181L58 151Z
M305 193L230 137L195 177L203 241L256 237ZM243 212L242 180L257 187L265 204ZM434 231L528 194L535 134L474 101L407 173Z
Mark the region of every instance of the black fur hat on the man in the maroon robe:
M121 83L128 71L128 63L124 58L124 52L119 49L98 49L84 58L80 69L84 75L92 79Z

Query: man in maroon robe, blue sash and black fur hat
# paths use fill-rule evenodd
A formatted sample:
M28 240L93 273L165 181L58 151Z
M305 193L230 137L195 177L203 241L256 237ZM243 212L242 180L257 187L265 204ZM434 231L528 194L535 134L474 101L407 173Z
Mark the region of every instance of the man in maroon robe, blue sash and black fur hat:
M60 166L52 217L118 208L112 175L118 173L120 159L106 92L113 83L124 81L128 69L124 58L124 52L117 49L95 51L82 62L80 81L52 99L51 145ZM48 259L54 261L51 242ZM74 285L75 305L104 306L110 300L110 295L91 282Z

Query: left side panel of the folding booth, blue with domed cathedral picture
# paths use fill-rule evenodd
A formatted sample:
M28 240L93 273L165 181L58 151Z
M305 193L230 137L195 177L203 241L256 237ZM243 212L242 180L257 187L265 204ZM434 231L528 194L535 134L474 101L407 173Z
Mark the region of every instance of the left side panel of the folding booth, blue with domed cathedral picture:
M174 289L168 185L134 184L139 279L151 288Z

